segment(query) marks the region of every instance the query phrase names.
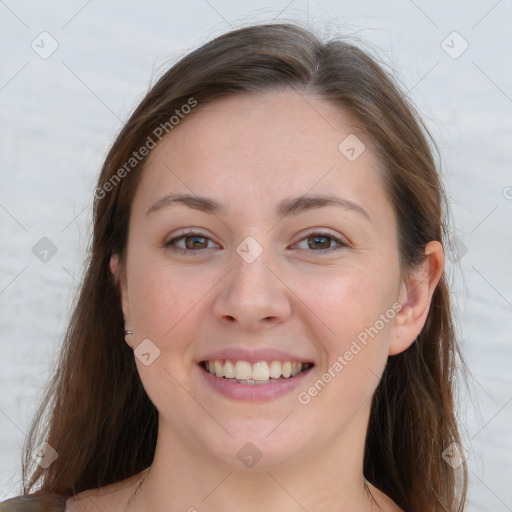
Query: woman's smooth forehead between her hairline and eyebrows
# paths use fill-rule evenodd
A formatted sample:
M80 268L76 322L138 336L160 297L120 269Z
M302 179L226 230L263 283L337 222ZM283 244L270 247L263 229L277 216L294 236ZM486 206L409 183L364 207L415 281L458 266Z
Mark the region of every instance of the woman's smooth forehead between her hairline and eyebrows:
M136 202L147 209L180 191L248 212L253 204L270 209L285 197L339 192L371 208L385 197L369 141L355 160L340 151L354 136L363 144L339 108L292 90L199 104L149 155Z

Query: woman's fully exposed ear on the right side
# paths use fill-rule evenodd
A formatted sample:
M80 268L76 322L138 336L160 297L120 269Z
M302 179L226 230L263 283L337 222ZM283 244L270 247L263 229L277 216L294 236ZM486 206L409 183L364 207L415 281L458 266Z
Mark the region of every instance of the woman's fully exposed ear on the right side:
M402 284L399 302L402 309L395 317L389 355L394 356L408 349L420 334L444 269L443 246L429 242L425 246L425 260Z

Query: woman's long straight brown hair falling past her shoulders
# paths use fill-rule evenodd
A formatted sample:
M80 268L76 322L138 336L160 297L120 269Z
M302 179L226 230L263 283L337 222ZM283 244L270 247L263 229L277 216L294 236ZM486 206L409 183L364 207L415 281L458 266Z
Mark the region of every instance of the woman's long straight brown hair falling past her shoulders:
M125 342L109 269L112 254L121 266L126 260L130 207L145 162L131 161L134 152L150 138L158 142L159 126L179 129L169 119L191 99L200 109L221 96L285 88L348 112L371 141L398 219L404 273L422 262L429 241L446 242L446 200L430 135L376 58L288 24L238 29L193 51L148 92L105 160L88 265L58 368L27 437L25 493L71 495L123 480L153 460L158 413ZM466 466L454 470L442 457L460 443L453 398L459 356L443 276L417 340L389 357L368 425L365 477L404 510L464 507ZM47 469L32 459L41 441L58 453Z

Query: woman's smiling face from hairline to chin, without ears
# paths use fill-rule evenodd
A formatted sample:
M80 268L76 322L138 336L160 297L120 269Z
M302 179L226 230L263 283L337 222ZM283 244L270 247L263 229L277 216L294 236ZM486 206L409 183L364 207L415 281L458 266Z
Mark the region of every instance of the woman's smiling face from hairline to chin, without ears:
M238 466L360 449L402 285L358 137L282 91L198 105L150 153L121 289L160 436Z

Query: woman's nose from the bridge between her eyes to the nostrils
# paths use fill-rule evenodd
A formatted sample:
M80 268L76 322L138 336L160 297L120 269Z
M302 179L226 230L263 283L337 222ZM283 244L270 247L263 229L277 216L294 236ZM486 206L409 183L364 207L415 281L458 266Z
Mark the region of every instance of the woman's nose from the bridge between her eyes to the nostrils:
M290 314L286 287L274 275L271 250L263 249L252 237L236 248L233 267L219 293L215 314L238 321L244 327L284 320Z

